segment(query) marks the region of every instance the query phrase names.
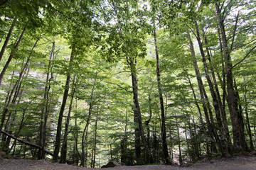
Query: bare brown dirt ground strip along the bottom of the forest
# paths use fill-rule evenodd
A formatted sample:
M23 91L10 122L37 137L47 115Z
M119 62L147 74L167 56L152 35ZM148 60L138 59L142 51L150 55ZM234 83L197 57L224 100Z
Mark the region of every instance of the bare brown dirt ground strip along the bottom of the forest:
M31 159L0 159L1 170L93 170L68 164L51 163L46 160ZM256 170L256 157L234 157L229 159L203 160L189 167L165 166L165 165L145 165L145 166L117 166L107 168L107 170Z

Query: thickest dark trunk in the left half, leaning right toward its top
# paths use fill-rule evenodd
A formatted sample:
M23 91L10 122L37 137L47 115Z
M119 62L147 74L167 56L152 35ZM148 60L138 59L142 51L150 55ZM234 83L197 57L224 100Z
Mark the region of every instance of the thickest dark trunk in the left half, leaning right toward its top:
M59 113L59 118L58 118L58 127L57 127L57 132L56 132L56 138L55 138L55 149L54 149L54 155L53 155L53 161L58 162L58 153L60 152L60 138L61 138L61 129L62 129L62 120L63 120L63 113L65 110L65 104L68 98L68 91L69 91L69 86L70 86L70 76L71 76L71 71L73 69L73 59L74 59L74 54L75 53L75 45L72 47L72 52L70 55L70 62L69 62L69 68L68 68L68 73L67 73L67 79L65 83L65 90L63 94L63 102L60 107L60 113Z

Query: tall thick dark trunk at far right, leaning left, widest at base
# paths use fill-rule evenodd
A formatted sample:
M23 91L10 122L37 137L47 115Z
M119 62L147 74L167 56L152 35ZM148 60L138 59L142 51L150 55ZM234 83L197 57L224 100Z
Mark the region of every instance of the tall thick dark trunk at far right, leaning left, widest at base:
M233 86L233 72L232 72L232 60L230 58L230 52L228 50L228 41L225 35L224 20L220 13L219 5L215 4L216 13L218 16L218 26L220 27L221 38L223 42L223 55L225 60L225 72L226 72L226 83L228 91L228 109L230 111L231 123L233 126L233 145L234 151L245 151L247 144L245 142L245 134L242 131L243 127L239 118L238 103L235 96L235 90Z

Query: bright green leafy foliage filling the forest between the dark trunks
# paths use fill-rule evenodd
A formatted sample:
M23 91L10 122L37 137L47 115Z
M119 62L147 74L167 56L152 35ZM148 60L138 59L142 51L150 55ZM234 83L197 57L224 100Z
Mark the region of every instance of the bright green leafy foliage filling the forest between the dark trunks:
M221 15L225 16L223 22L228 52L233 64L236 92L240 96L238 105L242 108L243 117L248 114L252 128L256 124L256 10L253 2L12 0L0 6L1 47L11 24L17 18L0 65L1 70L11 52L14 52L0 86L0 118L4 116L5 108L8 108L4 130L22 140L38 144L42 115L46 114L46 149L53 151L58 110L65 90L65 79L70 73L70 93L64 112L63 133L73 89L75 93L68 131L67 159L80 164L84 149L87 166L92 164L94 154L100 164L107 164L110 159L136 164L136 124L130 80L133 73L138 79L138 98L146 141L149 142L156 164L162 163L161 117L152 36L152 31L156 29L167 144L169 153L174 155L171 161L178 160L175 155L180 154L179 149L181 158L189 157L192 161L200 159L210 143L215 142L208 135L206 116L199 114L199 110L203 113L203 106L208 102L213 108L206 74L210 74L210 79L215 75L215 85L220 91L220 98L223 98L225 62L220 47L215 3L223 4ZM236 9L239 9L239 15ZM210 57L207 56L206 61L208 73L204 72L196 42L195 21L205 54L208 55L206 48L210 50ZM26 33L15 50L15 44L25 27ZM191 55L188 32L196 57ZM204 38L207 39L207 45ZM33 48L36 40L38 43ZM69 59L73 47L73 68L70 69ZM28 60L29 56L31 58ZM195 74L195 60L200 75ZM28 65L24 68L26 61ZM206 89L204 95L208 99L201 98L197 76L202 78ZM193 96L192 88L196 97ZM43 113L44 109L46 113ZM226 104L224 109L228 130L232 135ZM215 113L213 121L216 124ZM220 133L219 130L217 132ZM245 134L249 140L247 130ZM255 140L255 135L252 138ZM1 141L6 142L4 137ZM19 142L15 144L14 140L8 145L14 157L36 157L36 149ZM143 145L141 148L142 162L146 162ZM95 152L92 151L94 149Z

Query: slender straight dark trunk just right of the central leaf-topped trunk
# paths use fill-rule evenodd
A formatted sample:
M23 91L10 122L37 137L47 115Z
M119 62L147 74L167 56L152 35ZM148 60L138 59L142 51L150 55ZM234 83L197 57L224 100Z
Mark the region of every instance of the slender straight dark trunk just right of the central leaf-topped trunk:
M155 45L155 49L156 49L156 77L157 77L157 86L158 86L158 91L159 91L159 101L160 101L160 108L161 108L161 140L162 140L162 149L163 149L162 152L164 154L165 164L170 164L167 140L166 140L164 100L163 100L163 92L161 89L159 52L158 52L157 40L156 40L156 29L154 29L154 45Z

